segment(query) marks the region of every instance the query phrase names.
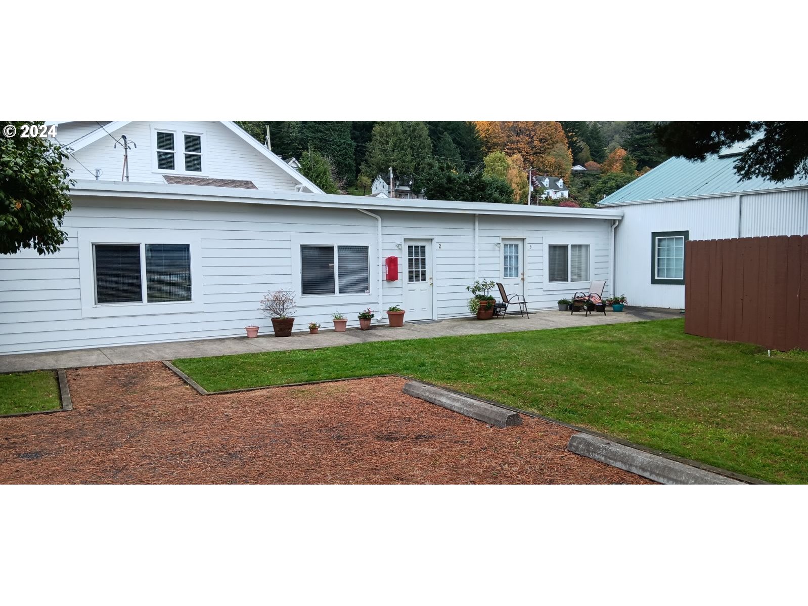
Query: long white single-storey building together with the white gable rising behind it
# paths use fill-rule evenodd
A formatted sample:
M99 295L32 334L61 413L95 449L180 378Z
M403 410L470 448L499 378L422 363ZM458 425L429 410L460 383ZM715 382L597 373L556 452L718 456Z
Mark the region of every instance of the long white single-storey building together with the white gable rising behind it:
M475 278L539 309L611 277L621 208L327 195L232 122L101 124L58 124L78 179L68 241L0 256L0 353L267 332L257 308L277 288L297 293L305 330L335 310L349 326L368 307L468 315Z

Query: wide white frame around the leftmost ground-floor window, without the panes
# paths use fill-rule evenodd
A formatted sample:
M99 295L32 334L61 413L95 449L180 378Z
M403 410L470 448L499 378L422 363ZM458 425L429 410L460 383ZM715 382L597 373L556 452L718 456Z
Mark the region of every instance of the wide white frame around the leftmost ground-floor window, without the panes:
M187 232L162 229L104 230L82 229L78 235L78 276L82 298L82 318L116 318L124 316L194 314L203 310L201 239ZM142 301L133 303L95 302L95 245L129 245L141 247ZM187 244L191 253L191 301L149 303L146 294L146 244Z

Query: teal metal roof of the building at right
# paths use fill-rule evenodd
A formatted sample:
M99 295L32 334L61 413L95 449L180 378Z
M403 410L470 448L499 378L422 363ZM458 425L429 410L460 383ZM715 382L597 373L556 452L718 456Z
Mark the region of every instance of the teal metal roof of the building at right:
M808 178L805 177L788 179L782 183L775 183L764 177L741 181L734 169L737 159L738 154L711 155L704 162L670 158L610 196L606 196L597 205L612 206L723 196L745 191L808 187Z

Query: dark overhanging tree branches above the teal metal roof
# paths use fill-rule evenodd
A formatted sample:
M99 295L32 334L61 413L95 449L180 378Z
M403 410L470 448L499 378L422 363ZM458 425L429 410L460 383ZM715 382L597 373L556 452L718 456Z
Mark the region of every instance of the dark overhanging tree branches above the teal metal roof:
M655 132L667 153L689 160L757 136L734 163L741 180L808 177L808 122L668 122Z

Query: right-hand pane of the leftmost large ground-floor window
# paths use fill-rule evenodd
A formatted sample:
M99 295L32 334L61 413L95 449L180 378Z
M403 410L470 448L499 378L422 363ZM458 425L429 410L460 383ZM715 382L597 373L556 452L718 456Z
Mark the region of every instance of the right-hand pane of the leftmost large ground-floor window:
M191 301L191 246L146 244L146 299L149 303Z

